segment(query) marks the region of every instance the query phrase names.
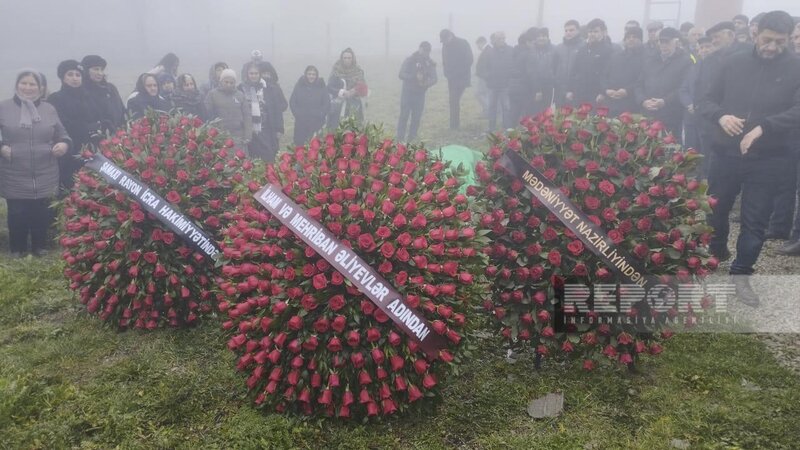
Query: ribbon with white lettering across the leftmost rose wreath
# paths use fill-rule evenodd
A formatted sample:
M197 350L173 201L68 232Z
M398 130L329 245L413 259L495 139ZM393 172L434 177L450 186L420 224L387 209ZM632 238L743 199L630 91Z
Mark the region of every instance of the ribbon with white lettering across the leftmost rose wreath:
M88 160L86 167L99 173L110 185L136 200L145 211L158 218L161 223L197 252L212 261L216 260L220 251L214 239L209 237L192 219L186 217L180 209L150 189L150 186L120 169L111 160L100 154L96 154Z

